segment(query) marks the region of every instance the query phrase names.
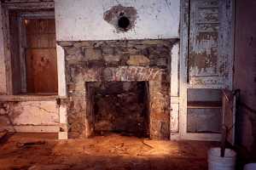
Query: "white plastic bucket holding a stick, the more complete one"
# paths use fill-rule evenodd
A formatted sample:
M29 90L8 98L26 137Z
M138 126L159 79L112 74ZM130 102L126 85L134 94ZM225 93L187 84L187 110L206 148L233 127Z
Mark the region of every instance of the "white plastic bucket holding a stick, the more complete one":
M236 152L225 150L225 156L220 156L220 148L212 148L208 151L209 170L234 170L236 167Z

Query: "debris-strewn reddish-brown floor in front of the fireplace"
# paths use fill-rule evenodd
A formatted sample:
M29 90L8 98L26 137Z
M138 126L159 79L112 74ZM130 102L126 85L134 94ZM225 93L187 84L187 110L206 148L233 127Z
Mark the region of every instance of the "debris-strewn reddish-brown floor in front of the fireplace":
M16 133L0 144L0 169L203 170L207 150L216 145L120 134L57 140L54 134Z

